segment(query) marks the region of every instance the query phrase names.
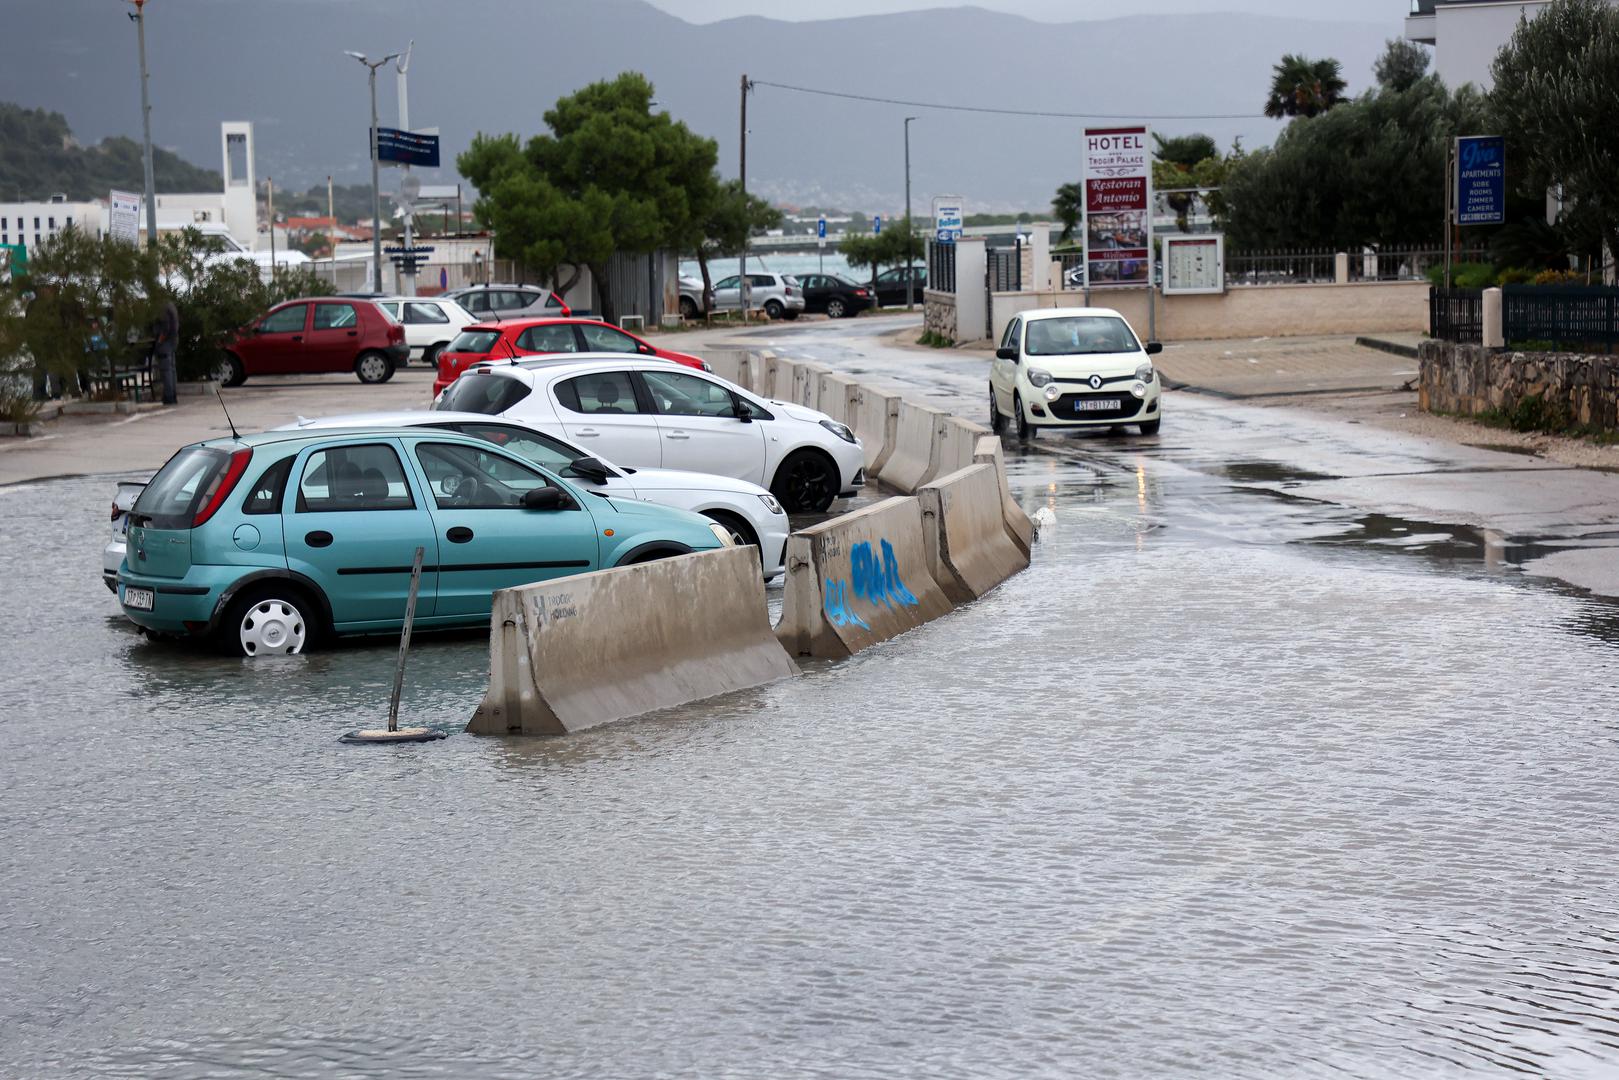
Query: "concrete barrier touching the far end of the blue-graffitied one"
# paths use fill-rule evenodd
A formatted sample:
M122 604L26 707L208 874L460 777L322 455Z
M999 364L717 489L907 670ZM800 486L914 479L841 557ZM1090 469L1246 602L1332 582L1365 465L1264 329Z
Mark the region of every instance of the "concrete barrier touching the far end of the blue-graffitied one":
M955 604L975 601L1028 568L1005 528L992 465L968 465L916 491L934 581Z

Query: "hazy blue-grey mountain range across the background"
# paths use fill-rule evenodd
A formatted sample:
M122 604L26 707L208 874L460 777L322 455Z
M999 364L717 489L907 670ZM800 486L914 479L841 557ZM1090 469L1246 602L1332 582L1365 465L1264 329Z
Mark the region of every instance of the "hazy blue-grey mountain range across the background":
M1350 91L1397 24L1271 15L1153 15L1035 23L979 8L784 23L691 24L643 0L152 0L147 11L152 136L217 168L219 125L253 120L257 175L278 188L369 180L366 73L343 50L382 55L414 39L413 126L437 126L444 168L478 131L533 134L546 108L593 79L646 73L661 108L719 141L738 164L743 73L750 188L788 204L894 212L903 202L903 118L911 123L918 214L931 194L968 212L1044 207L1080 168L1081 130L1104 117L1151 118L1166 134L1268 144L1260 115L1285 52L1342 62ZM107 0L13 5L0 100L66 115L78 138L139 136L134 28ZM395 79L379 71L382 125ZM782 86L856 97L808 94ZM949 112L970 105L1096 120ZM1188 118L1221 117L1221 118ZM397 185L385 175L384 186Z

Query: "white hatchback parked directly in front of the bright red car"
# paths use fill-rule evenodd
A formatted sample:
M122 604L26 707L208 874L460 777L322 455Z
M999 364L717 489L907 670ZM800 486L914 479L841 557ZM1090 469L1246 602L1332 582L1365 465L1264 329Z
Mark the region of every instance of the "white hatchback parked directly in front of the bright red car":
M622 353L474 364L436 410L512 416L631 468L735 476L788 513L821 513L866 483L865 450L826 413Z

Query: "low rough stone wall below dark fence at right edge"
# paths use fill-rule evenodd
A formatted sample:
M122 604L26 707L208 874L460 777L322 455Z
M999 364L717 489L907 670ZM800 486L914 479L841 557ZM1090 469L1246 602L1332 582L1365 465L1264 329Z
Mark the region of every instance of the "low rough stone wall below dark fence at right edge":
M1525 398L1540 397L1570 424L1619 431L1619 356L1514 353L1451 342L1423 342L1417 355L1423 411L1512 413Z

